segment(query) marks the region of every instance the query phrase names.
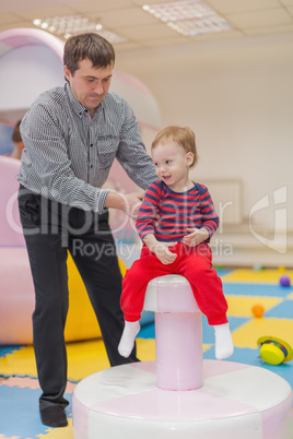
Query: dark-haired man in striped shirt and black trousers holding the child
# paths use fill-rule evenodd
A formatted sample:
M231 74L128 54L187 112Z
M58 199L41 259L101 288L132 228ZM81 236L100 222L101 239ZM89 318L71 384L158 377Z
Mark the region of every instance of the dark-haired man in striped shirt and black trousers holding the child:
M66 43L63 60L65 87L43 93L23 118L25 150L17 177L36 295L33 332L43 391L39 411L43 424L50 427L67 425L67 250L91 298L110 365L138 361L136 348L128 360L117 351L124 330L121 274L107 209L134 218L144 191L121 194L101 187L115 157L139 187L145 189L155 179L132 109L108 92L113 46L97 34L73 36ZM81 240L96 252L82 251Z

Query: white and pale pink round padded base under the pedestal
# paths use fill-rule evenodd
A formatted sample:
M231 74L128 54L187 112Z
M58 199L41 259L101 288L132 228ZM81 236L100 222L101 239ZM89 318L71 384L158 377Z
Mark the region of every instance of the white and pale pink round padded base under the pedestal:
M292 389L276 373L203 360L203 385L161 390L155 361L83 379L72 399L74 439L290 439Z

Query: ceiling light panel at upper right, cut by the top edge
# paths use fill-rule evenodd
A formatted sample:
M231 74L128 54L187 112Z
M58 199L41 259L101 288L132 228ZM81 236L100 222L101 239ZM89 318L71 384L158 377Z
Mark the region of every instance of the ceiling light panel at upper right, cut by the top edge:
M144 4L142 9L174 31L186 36L230 31L232 28L226 20L202 0Z

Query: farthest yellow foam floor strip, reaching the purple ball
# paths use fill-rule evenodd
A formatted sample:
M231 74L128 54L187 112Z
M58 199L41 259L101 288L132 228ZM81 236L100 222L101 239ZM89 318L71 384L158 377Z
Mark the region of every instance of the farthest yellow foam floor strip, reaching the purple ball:
M223 282L250 282L250 283L272 283L279 284L281 276L289 276L291 283L293 281L293 270L259 270L253 271L249 269L233 270L231 273L224 274Z

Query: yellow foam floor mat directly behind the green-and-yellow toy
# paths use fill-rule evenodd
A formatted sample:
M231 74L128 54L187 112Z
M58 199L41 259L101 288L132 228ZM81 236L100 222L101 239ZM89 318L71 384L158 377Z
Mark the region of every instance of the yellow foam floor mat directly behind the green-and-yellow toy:
M293 320L254 319L232 332L233 342L236 347L250 347L254 349L257 348L257 340L263 335L273 335L285 340L292 346Z

